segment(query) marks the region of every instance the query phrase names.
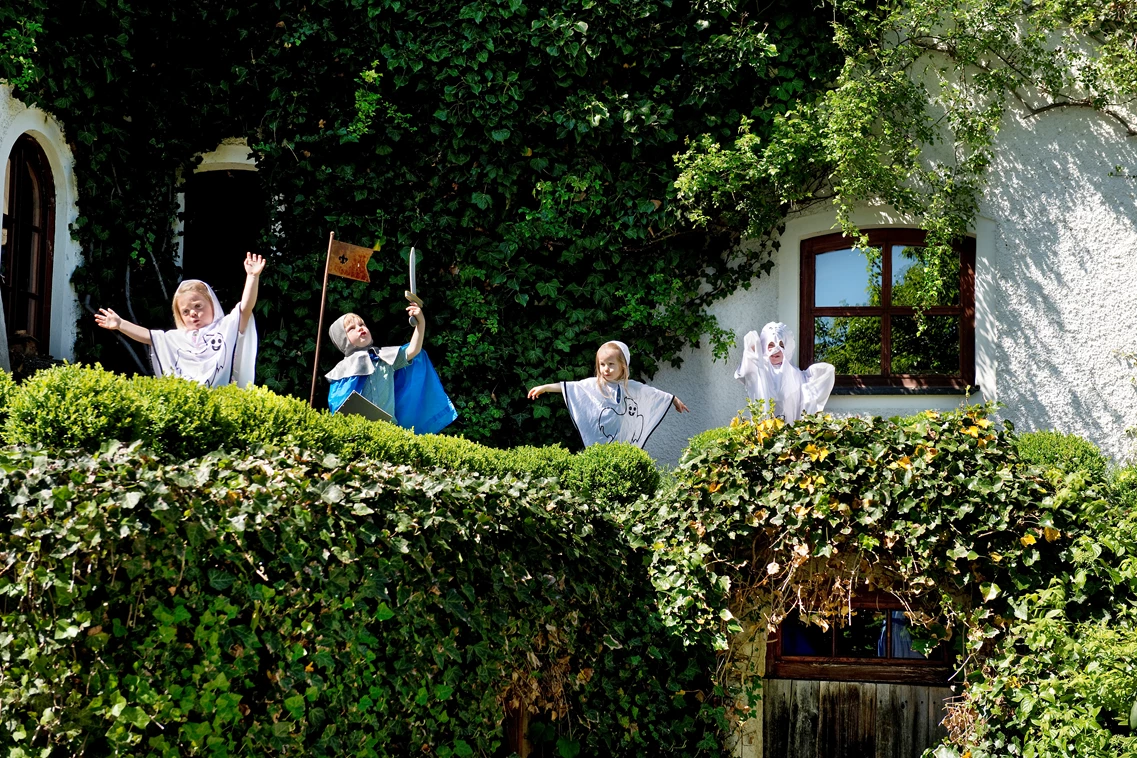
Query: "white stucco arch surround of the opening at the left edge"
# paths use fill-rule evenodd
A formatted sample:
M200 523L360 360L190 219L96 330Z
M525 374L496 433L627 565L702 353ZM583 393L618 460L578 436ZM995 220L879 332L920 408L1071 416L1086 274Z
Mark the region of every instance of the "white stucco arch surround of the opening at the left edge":
M78 266L82 251L70 236L70 225L78 218L77 184L74 159L63 130L55 118L38 108L28 108L11 95L11 89L0 82L0 159L7 160L20 134L30 134L43 148L56 185L55 259L51 272L51 336L48 350L56 358L75 357L78 298L70 277ZM5 206L6 182L0 182L0 208ZM7 351L5 351L7 358Z

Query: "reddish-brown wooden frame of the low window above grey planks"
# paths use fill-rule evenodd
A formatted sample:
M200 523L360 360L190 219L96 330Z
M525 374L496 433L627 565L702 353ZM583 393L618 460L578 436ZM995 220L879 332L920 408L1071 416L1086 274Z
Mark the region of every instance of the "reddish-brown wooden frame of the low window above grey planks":
M856 610L904 610L904 605L885 592L864 592L853 597ZM891 625L889 625L891 626ZM955 673L955 656L945 648L941 658L845 658L839 656L786 656L782 628L766 640L766 677L778 680L820 680L828 682L883 682L944 686ZM837 627L830 628L836 645ZM891 634L889 630L889 634ZM886 648L890 648L890 643ZM836 647L832 648L836 651Z

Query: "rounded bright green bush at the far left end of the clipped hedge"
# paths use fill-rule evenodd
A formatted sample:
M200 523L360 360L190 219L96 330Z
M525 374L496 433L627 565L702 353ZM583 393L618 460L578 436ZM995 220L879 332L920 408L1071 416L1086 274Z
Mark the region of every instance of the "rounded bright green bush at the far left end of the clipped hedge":
M98 450L109 440L142 439L143 413L127 377L98 364L56 366L10 393L6 436L47 450Z

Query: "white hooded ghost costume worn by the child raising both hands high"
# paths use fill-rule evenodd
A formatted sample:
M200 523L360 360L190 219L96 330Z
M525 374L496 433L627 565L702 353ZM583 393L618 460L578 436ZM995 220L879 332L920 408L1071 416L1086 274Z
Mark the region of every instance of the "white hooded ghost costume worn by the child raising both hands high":
M249 316L249 324L241 334L241 303L225 314L213 288L205 286L213 302L211 324L189 330L179 318L176 330L150 330L150 366L153 374L181 376L206 386L230 382L249 386L256 381L257 325Z

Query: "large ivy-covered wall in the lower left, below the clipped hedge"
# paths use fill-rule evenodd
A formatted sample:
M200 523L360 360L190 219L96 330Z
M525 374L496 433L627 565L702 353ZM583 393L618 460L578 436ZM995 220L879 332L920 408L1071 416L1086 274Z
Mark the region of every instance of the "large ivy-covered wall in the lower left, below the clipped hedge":
M551 482L108 445L0 492L2 755L504 756L507 707L542 755L721 751L709 645Z

